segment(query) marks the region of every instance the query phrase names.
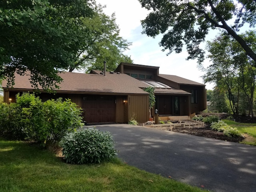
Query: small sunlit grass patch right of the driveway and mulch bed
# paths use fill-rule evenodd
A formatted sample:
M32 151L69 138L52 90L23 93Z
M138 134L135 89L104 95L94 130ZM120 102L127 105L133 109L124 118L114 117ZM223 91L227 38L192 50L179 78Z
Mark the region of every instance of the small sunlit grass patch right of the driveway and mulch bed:
M228 119L222 121L232 127L236 127L242 135L250 136L250 138L246 138L241 143L256 146L256 123L239 123Z

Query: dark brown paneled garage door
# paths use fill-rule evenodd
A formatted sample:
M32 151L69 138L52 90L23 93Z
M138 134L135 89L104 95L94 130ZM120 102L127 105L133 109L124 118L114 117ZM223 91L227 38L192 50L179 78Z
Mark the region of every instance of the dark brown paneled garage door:
M115 96L84 96L82 108L87 123L115 122Z

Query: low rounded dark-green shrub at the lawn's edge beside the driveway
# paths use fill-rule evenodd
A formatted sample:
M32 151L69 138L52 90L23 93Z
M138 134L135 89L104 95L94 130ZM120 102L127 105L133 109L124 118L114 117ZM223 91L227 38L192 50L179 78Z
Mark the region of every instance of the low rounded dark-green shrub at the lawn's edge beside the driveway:
M60 142L67 163L101 163L116 155L110 132L87 128L68 133Z

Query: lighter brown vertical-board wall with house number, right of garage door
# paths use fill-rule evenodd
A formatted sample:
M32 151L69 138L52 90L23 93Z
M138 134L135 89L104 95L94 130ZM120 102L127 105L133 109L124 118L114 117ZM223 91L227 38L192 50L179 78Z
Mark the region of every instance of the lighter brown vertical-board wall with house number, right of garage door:
M140 123L148 121L149 118L149 101L148 95L146 96L128 96L128 119L130 120L133 115Z

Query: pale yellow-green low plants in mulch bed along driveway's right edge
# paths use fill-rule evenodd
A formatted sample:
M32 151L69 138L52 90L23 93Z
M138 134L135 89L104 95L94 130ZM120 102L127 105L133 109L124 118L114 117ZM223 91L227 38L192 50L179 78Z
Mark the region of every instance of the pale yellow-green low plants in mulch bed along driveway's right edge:
M240 132L238 131L237 128L233 128L229 125L227 125L223 121L218 121L218 122L213 122L211 125L211 128L213 130L223 132L224 135L228 137L238 137L241 136Z

